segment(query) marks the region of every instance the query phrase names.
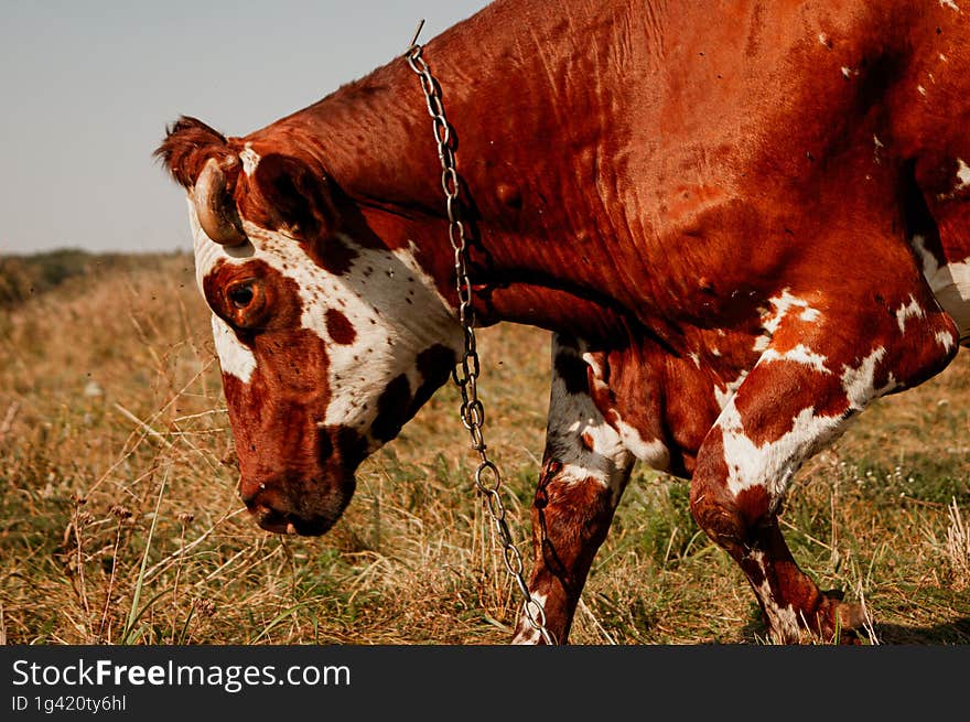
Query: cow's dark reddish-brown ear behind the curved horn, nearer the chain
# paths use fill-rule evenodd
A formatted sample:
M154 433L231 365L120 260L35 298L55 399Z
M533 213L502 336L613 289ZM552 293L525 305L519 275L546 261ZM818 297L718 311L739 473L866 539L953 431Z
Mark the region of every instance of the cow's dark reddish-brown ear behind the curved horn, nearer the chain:
M316 164L269 153L259 159L248 184L255 193L240 198L240 208L260 225L308 240L326 235L337 225L336 188ZM261 207L247 207L247 202L254 201Z

